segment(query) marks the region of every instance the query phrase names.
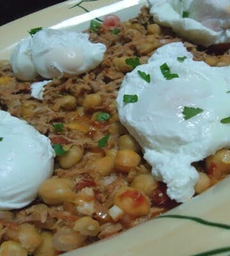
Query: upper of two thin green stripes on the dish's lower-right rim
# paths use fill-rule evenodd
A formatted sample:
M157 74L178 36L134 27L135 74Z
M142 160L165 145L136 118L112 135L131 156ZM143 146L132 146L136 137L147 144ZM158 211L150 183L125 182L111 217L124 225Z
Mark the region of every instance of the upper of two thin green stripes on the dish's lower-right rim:
M162 216L159 216L158 218L173 218L173 219L192 220L192 221L195 221L197 223L200 223L200 224L203 224L203 225L206 225L206 226L210 226L210 227L230 229L230 225L217 223L217 222L206 221L206 220L203 220L201 218L191 217L191 216L171 214L171 215L162 215ZM210 254L210 255L212 255L212 254Z

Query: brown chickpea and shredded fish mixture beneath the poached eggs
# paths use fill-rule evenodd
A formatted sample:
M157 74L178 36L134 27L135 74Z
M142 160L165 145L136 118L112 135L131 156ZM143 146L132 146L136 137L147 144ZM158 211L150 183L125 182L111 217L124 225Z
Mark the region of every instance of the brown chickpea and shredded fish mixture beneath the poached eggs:
M0 252L15 248L24 255L58 255L178 205L167 196L164 182L151 175L140 145L121 124L116 97L127 72L147 63L159 47L183 40L155 24L147 8L128 22L117 21L118 17L116 22L110 18L107 26L96 24L86 31L92 42L107 47L102 63L79 76L52 79L42 100L31 97L31 83L42 77L23 83L10 64L1 61L1 108L45 134L56 158L53 176L42 182L31 205L0 212ZM215 56L188 42L184 45L196 61L218 67L230 63L227 52ZM199 174L195 195L226 177L229 153L222 149L192 163Z

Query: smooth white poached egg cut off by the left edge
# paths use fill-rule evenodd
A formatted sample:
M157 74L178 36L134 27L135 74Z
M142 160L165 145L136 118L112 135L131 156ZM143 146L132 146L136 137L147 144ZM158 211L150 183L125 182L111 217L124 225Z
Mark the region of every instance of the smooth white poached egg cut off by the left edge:
M0 211L20 209L52 175L55 153L49 138L6 111L0 111L0 127Z

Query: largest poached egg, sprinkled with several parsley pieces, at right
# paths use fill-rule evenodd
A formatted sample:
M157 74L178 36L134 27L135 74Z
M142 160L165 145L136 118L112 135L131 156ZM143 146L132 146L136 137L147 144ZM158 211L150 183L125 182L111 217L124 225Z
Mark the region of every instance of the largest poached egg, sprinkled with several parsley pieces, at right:
M121 122L141 145L155 179L167 184L167 195L177 202L194 195L198 173L191 164L230 145L230 124L220 122L230 116L230 67L192 58L181 42L160 47L147 64L127 74L117 98ZM164 63L178 77L166 79ZM139 71L150 75L150 83ZM138 100L125 103L124 95ZM202 111L187 119L185 107Z

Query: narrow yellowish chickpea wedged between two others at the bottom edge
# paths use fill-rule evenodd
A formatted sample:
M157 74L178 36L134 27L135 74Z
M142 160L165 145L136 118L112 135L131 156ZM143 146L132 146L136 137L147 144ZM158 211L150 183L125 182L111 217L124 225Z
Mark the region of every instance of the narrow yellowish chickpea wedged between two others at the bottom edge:
M52 245L52 234L50 232L42 232L42 244L38 247L34 256L56 256L57 251Z

